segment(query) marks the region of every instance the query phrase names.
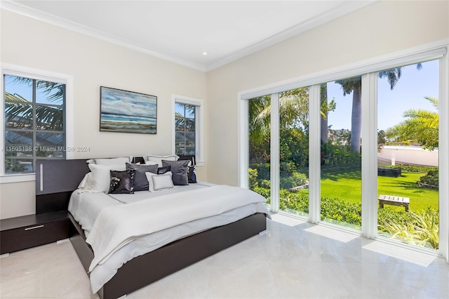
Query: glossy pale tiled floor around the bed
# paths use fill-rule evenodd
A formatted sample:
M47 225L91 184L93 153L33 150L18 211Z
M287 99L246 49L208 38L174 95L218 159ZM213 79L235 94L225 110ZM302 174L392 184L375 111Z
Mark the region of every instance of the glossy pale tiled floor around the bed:
M97 298L70 242L0 259L1 298ZM449 298L442 258L274 215L267 233L128 298Z

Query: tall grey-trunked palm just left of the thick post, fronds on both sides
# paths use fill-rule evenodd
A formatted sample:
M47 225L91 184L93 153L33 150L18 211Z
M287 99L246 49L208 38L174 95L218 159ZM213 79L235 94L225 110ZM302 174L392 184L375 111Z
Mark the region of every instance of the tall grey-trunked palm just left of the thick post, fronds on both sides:
M420 70L422 65L418 63L416 68ZM379 78L387 78L390 84L391 90L393 90L396 83L401 78L402 67L395 67L394 69L384 69L377 73ZM361 114L362 114L362 102L361 102L361 77L354 77L349 79L343 79L335 81L340 84L343 89L343 95L352 93L352 115L351 115L351 152L360 152L361 141Z

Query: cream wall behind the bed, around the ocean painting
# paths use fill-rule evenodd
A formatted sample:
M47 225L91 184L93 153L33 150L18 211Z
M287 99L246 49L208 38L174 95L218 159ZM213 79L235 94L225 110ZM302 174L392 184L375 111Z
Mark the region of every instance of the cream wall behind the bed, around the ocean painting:
M171 95L200 98L207 107L205 72L11 11L1 10L0 25L1 63L73 77L74 146L91 148L90 152L75 153L75 158L170 154ZM100 86L156 95L157 134L100 132ZM206 167L197 172L199 179L206 180ZM0 184L1 219L32 213L34 182Z

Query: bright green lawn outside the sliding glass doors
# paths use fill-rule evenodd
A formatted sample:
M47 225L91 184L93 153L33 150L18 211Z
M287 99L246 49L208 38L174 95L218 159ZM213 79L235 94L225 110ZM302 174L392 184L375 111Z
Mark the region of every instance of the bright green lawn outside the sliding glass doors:
M398 178L377 177L379 194L410 198L410 210L426 210L428 206L438 210L438 190L418 187L417 181L425 173L403 171ZM304 190L304 192L307 192ZM345 201L361 202L361 171L326 173L321 175L321 197L338 197ZM391 206L398 210L403 207Z

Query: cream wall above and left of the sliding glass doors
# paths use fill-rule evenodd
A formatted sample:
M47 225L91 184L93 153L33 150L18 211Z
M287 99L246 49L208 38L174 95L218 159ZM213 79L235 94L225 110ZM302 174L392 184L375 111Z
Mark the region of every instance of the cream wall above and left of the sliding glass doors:
M449 39L448 20L448 1L381 1L208 72L208 180L239 183L239 91Z

